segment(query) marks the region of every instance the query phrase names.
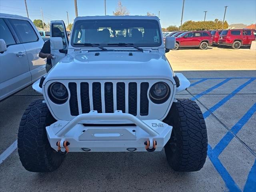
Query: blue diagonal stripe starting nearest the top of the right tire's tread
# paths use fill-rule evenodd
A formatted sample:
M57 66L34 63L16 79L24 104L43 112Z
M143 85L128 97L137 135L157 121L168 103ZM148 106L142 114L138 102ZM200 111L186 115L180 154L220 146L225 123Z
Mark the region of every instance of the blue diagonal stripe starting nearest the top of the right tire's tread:
M215 104L213 107L211 107L208 111L204 112L204 118L207 118L210 115L210 112L214 112L216 109L218 109L220 106L222 106L223 104L225 104L228 100L230 100L232 97L235 96L236 93L238 93L240 90L242 90L246 85L250 84L251 82L253 82L256 78L251 78L250 80L248 80L247 82L245 82L244 84L242 84L241 86L239 86L236 90L234 90L231 94L229 94L228 96L224 97L222 100L220 100L220 102L218 102L217 104ZM210 111L210 112L209 112Z

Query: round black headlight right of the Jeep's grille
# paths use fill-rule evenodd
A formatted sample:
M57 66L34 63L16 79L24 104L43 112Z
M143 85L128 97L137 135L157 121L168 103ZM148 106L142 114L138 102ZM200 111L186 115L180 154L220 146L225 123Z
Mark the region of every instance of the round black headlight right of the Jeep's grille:
M153 103L161 104L168 100L170 87L165 82L155 83L149 91L149 98Z

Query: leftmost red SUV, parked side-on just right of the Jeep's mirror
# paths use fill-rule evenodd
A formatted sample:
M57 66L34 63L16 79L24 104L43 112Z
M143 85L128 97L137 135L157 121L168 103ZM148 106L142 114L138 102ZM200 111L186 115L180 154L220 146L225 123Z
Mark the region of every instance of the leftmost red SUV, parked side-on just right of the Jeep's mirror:
M192 31L184 32L176 37L175 48L180 47L199 47L200 49L207 49L212 45L212 35L208 31Z

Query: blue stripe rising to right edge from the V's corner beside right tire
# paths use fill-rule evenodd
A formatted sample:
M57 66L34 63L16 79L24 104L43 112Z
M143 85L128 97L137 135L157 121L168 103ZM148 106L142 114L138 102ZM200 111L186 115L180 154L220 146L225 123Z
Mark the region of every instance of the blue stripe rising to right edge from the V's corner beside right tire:
M229 142L234 138L240 129L248 122L252 115L256 112L256 103L244 114L244 116L231 128L231 132L227 132L226 135L220 140L220 142L213 149L216 156L219 156L222 151L228 146Z

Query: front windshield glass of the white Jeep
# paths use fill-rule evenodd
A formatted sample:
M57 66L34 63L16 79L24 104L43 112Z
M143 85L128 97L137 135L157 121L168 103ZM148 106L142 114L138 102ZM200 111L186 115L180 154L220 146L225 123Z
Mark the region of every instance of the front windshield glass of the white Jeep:
M116 43L153 47L162 44L157 20L149 19L102 19L78 20L72 32L72 46L98 44L111 47ZM110 44L110 45L108 45Z

